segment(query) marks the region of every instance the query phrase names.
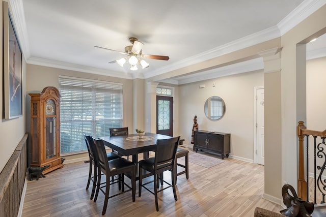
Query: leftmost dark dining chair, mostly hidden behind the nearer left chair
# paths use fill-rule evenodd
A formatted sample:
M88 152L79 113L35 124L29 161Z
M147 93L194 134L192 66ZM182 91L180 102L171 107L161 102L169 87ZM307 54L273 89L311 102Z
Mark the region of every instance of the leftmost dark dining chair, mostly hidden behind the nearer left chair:
M97 163L95 162L95 157L94 157L94 154L95 154L95 144L93 142L93 139L91 136L89 135L86 135L85 133L83 133L84 135L84 139L85 139L85 142L86 142L86 146L87 146L87 150L88 150L88 155L89 155L89 158L90 158L90 168L89 168L89 173L88 173L88 181L87 181L87 185L86 185L86 190L89 188L90 186L90 182L92 181L93 182L93 188L92 188L92 193L91 193L91 200L93 199L94 197L94 193L95 193L95 188L96 188L96 181L97 181ZM113 159L117 159L117 158L120 158L120 156L114 152L107 152L106 153L106 159L108 161L110 160L113 160ZM93 167L94 167L94 174L92 176L92 173L93 173Z

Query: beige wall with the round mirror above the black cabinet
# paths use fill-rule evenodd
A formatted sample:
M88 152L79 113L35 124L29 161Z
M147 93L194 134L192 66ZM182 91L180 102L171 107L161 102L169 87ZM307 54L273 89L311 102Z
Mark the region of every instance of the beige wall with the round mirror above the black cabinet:
M212 83L215 82L215 86ZM199 88L204 84L205 88ZM179 87L179 126L184 143L190 144L193 118L197 115L199 130L231 134L231 156L254 161L254 87L264 86L264 73L249 72L199 81ZM225 115L216 121L204 113L204 104L211 96L221 97L226 104Z

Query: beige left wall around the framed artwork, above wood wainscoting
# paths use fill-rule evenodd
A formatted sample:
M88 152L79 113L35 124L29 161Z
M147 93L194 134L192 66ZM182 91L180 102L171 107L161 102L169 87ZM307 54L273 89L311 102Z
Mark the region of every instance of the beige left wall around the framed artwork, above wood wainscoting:
M3 4L0 4L0 41L3 41ZM3 59L3 43L0 43L0 59ZM23 57L24 59L24 57ZM23 60L23 78L26 76L25 74L25 62ZM3 69L3 61L0 61L0 68ZM25 108L23 107L23 116L14 118L14 119L5 119L5 111L4 111L4 74L0 76L0 111L1 111L1 121L0 121L0 172L4 169L7 164L9 158L14 152L16 146L19 141L25 134ZM22 82L22 90L24 96L25 91L25 83L24 80ZM23 103L25 101L23 97Z

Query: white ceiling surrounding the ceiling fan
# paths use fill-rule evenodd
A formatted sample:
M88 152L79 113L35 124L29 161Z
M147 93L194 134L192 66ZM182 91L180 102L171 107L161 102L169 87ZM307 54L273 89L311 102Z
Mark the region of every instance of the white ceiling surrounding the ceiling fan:
M279 37L325 1L12 0L10 3L28 63L123 78L150 78ZM124 51L130 45L129 37L137 37L144 43L143 53L167 55L170 59L148 59L150 67L135 73L127 64L123 68L116 63L108 64L123 54L94 47ZM313 49L324 47L314 45ZM258 62L243 64L259 68ZM256 69L254 65L249 68ZM219 70L225 74L229 68ZM209 72L205 73L205 79L209 78ZM181 84L194 79L197 78L182 76L171 82Z

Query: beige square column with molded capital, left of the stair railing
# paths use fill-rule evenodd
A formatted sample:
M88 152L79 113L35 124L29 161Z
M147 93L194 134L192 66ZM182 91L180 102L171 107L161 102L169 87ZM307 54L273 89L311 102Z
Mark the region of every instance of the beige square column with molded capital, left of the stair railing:
M281 50L259 52L264 62L264 195L265 199L282 198L282 119L281 119Z

